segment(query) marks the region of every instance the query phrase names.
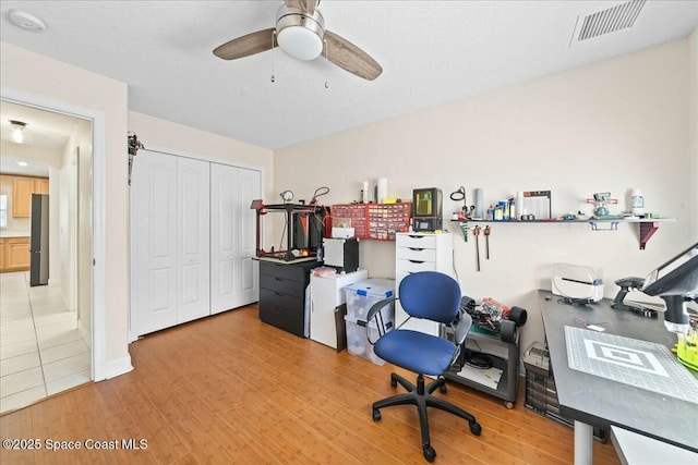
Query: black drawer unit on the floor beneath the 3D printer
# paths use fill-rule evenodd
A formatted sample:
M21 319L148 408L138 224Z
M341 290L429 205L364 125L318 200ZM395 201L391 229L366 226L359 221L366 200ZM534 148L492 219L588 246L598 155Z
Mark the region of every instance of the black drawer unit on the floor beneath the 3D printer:
M317 260L278 262L260 260L260 319L306 338L305 290Z

